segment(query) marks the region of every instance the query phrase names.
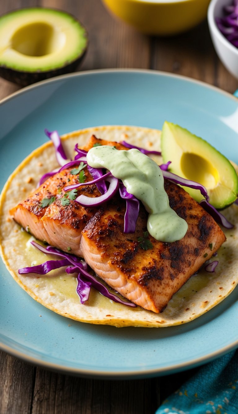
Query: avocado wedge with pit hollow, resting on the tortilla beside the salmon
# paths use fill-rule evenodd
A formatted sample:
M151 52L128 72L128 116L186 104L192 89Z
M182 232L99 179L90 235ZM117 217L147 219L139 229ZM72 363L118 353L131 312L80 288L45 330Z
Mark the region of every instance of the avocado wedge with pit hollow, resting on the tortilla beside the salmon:
M232 204L238 195L238 176L230 161L207 141L170 122L161 135L164 162L169 171L207 188L209 202L217 209ZM184 187L196 201L204 198L199 190Z

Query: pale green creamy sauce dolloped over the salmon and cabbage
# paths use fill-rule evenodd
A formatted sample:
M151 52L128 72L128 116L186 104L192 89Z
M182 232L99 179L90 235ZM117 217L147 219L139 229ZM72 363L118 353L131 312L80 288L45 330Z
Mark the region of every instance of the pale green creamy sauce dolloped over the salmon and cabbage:
M138 149L117 150L101 145L88 151L87 162L91 167L111 171L128 193L141 200L149 213L147 229L152 237L173 242L185 236L188 224L169 207L162 171L150 157Z

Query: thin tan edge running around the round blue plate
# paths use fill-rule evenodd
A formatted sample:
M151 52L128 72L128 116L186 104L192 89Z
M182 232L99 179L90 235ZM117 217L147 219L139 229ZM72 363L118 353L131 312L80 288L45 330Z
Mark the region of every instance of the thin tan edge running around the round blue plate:
M198 84L201 87L205 87L206 89L212 89L219 94L225 95L227 98L232 99L238 104L238 99L233 94L224 91L220 89L217 86L214 86L212 84L208 84L206 82L200 81L198 79L193 79L184 75L178 75L173 74L170 72L164 72L159 70L151 70L151 69L135 69L135 68L109 68L109 69L93 69L93 70L83 70L76 73L69 73L66 75L59 75L56 77L52 77L50 79L45 79L40 82L36 82L35 84L29 85L27 87L21 88L9 96L6 96L0 101L0 106L4 105L5 103L11 101L17 96L20 96L22 94L27 93L31 89L37 89L38 87L42 87L45 84L51 83L51 82L61 82L64 81L64 79L68 78L77 78L83 75L97 75L97 74L110 74L110 73L138 73L138 74L147 74L147 75L155 75L155 76L165 76L170 77L172 79L181 79L185 82L189 82L192 84ZM152 376L159 376L159 375L169 375L171 373L175 373L178 371L186 370L193 368L195 366L202 365L203 363L212 361L213 359L218 358L219 356L222 356L229 351L232 351L233 349L236 349L238 347L238 339L231 344L226 345L223 348L220 348L217 351L211 352L209 354L206 354L205 356L200 356L199 358L194 358L187 362L181 362L173 365L167 365L166 367L160 367L160 368L147 368L143 369L142 371L138 370L128 370L128 371L95 371L93 369L84 369L84 368L74 368L70 366L64 366L58 363L52 363L49 361L44 361L42 359L38 359L36 357L32 357L27 355L27 353L17 351L17 349L14 349L13 347L8 346L7 344L4 344L3 342L0 342L0 350L6 352L7 354L14 356L21 361L30 363L34 366L40 366L42 368L50 369L52 371L56 371L59 373L64 374L71 374L71 375L78 375L83 378L105 378L105 379L129 379L129 378L146 378L146 377L152 377Z

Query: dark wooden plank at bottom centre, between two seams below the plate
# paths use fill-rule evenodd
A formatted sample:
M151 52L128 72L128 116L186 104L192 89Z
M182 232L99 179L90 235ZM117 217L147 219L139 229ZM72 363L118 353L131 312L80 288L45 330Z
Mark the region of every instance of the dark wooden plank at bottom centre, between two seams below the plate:
M37 368L32 414L150 414L158 388L157 379L90 380Z

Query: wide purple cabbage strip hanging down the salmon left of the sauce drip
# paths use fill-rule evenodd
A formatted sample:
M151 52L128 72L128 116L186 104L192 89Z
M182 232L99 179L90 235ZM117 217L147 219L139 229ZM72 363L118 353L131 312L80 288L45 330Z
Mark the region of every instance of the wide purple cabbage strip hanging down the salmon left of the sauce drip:
M124 215L124 233L135 233L136 221L138 219L140 202L133 195L128 193L123 183L120 183L119 193L121 198L126 200L126 212Z

